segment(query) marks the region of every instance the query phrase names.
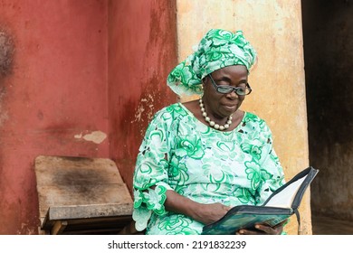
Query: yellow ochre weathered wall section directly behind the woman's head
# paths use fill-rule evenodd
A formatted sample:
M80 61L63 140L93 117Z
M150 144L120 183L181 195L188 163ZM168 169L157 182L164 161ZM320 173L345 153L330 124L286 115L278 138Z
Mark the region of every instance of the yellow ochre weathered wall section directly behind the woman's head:
M176 0L178 59L211 28L243 30L258 52L243 110L266 120L287 181L309 166L300 0ZM189 100L194 98L181 98ZM311 234L310 191L301 202L301 234ZM297 234L293 216L285 228Z

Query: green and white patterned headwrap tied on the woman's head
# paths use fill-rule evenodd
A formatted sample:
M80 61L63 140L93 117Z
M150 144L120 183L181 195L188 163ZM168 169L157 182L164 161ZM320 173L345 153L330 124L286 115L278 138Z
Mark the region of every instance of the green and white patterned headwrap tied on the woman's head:
M242 31L231 33L211 29L198 44L196 52L169 73L167 85L179 96L201 95L206 75L231 65L244 65L249 71L255 61L256 52Z

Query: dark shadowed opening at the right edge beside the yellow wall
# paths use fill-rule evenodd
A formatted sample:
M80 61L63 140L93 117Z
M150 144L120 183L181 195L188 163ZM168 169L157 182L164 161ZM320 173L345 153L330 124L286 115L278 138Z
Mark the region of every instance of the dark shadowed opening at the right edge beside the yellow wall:
M353 220L353 3L303 1L312 211Z

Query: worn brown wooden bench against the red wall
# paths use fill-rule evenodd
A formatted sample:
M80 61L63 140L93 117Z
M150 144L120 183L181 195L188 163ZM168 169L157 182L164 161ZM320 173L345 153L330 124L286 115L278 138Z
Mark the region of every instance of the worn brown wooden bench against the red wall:
M118 234L131 222L133 201L110 159L41 155L34 168L40 234Z

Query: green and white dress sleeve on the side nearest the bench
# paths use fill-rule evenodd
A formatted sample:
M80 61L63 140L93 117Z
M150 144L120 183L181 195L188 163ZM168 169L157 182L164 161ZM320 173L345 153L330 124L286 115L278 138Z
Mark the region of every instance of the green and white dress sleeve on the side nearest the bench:
M148 125L144 139L138 150L135 166L133 220L136 230L147 228L152 213L167 213L164 203L167 190L172 190L167 181L169 159L168 122L170 114L158 112Z

